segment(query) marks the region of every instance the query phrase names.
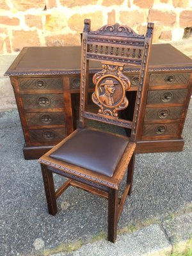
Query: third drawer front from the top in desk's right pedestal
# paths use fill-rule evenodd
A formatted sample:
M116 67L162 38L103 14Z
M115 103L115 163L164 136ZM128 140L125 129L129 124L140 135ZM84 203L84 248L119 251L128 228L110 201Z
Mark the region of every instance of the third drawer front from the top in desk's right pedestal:
M145 121L164 120L164 119L179 119L182 107L174 108L146 108Z

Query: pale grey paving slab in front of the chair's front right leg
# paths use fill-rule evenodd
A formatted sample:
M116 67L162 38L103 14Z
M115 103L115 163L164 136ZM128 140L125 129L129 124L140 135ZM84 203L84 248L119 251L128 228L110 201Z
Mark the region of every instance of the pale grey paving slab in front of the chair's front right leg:
M83 245L70 256L143 256L154 253L171 253L172 245L166 239L159 225L150 225L141 230L118 236L116 243L97 241ZM56 253L52 256L66 256L65 253Z

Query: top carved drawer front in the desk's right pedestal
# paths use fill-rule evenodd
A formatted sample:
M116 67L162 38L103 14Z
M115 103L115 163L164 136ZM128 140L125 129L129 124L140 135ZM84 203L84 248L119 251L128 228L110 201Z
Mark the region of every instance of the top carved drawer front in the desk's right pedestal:
M181 74L151 74L150 75L150 86L158 85L170 85L170 84L188 84L190 73Z

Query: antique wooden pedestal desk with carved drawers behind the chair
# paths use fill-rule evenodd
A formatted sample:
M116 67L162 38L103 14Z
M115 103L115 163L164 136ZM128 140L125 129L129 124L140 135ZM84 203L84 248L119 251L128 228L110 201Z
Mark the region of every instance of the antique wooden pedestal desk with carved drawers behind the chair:
M81 47L25 47L5 76L15 93L25 138L25 159L36 159L76 128ZM101 67L92 61L92 72ZM169 44L154 44L148 92L136 152L180 151L191 96L192 60ZM125 66L131 79L127 97L134 101L138 69ZM90 92L93 90L90 74ZM132 109L124 112L132 118ZM129 131L128 131L129 132Z

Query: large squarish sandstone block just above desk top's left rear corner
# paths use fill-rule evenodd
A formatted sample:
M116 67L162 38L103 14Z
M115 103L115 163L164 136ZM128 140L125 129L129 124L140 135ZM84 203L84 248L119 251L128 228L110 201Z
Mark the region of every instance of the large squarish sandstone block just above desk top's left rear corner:
M40 40L36 31L13 31L13 51L18 52L23 47L40 46Z

